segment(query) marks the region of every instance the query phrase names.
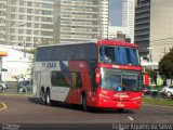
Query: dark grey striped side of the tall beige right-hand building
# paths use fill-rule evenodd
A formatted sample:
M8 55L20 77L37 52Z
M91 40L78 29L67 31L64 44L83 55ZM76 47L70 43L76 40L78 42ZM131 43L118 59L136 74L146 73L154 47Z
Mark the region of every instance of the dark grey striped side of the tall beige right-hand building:
M137 0L135 9L135 43L142 57L147 58L150 35L150 0Z

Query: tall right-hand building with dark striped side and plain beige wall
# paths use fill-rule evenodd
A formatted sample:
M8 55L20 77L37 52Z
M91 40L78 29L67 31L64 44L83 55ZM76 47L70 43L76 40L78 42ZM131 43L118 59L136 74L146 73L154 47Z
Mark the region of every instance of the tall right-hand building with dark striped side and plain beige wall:
M141 55L150 62L158 63L173 47L172 6L172 0L137 0L135 43Z

